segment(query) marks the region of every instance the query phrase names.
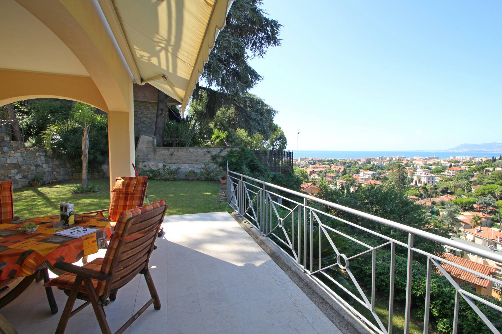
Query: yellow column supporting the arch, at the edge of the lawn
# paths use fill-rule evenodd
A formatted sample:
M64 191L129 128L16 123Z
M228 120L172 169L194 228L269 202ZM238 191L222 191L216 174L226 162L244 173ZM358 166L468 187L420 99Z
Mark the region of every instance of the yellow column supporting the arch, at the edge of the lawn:
M108 157L110 162L110 190L117 176L135 176L131 163L134 156L134 107L131 83L129 112L108 112Z

